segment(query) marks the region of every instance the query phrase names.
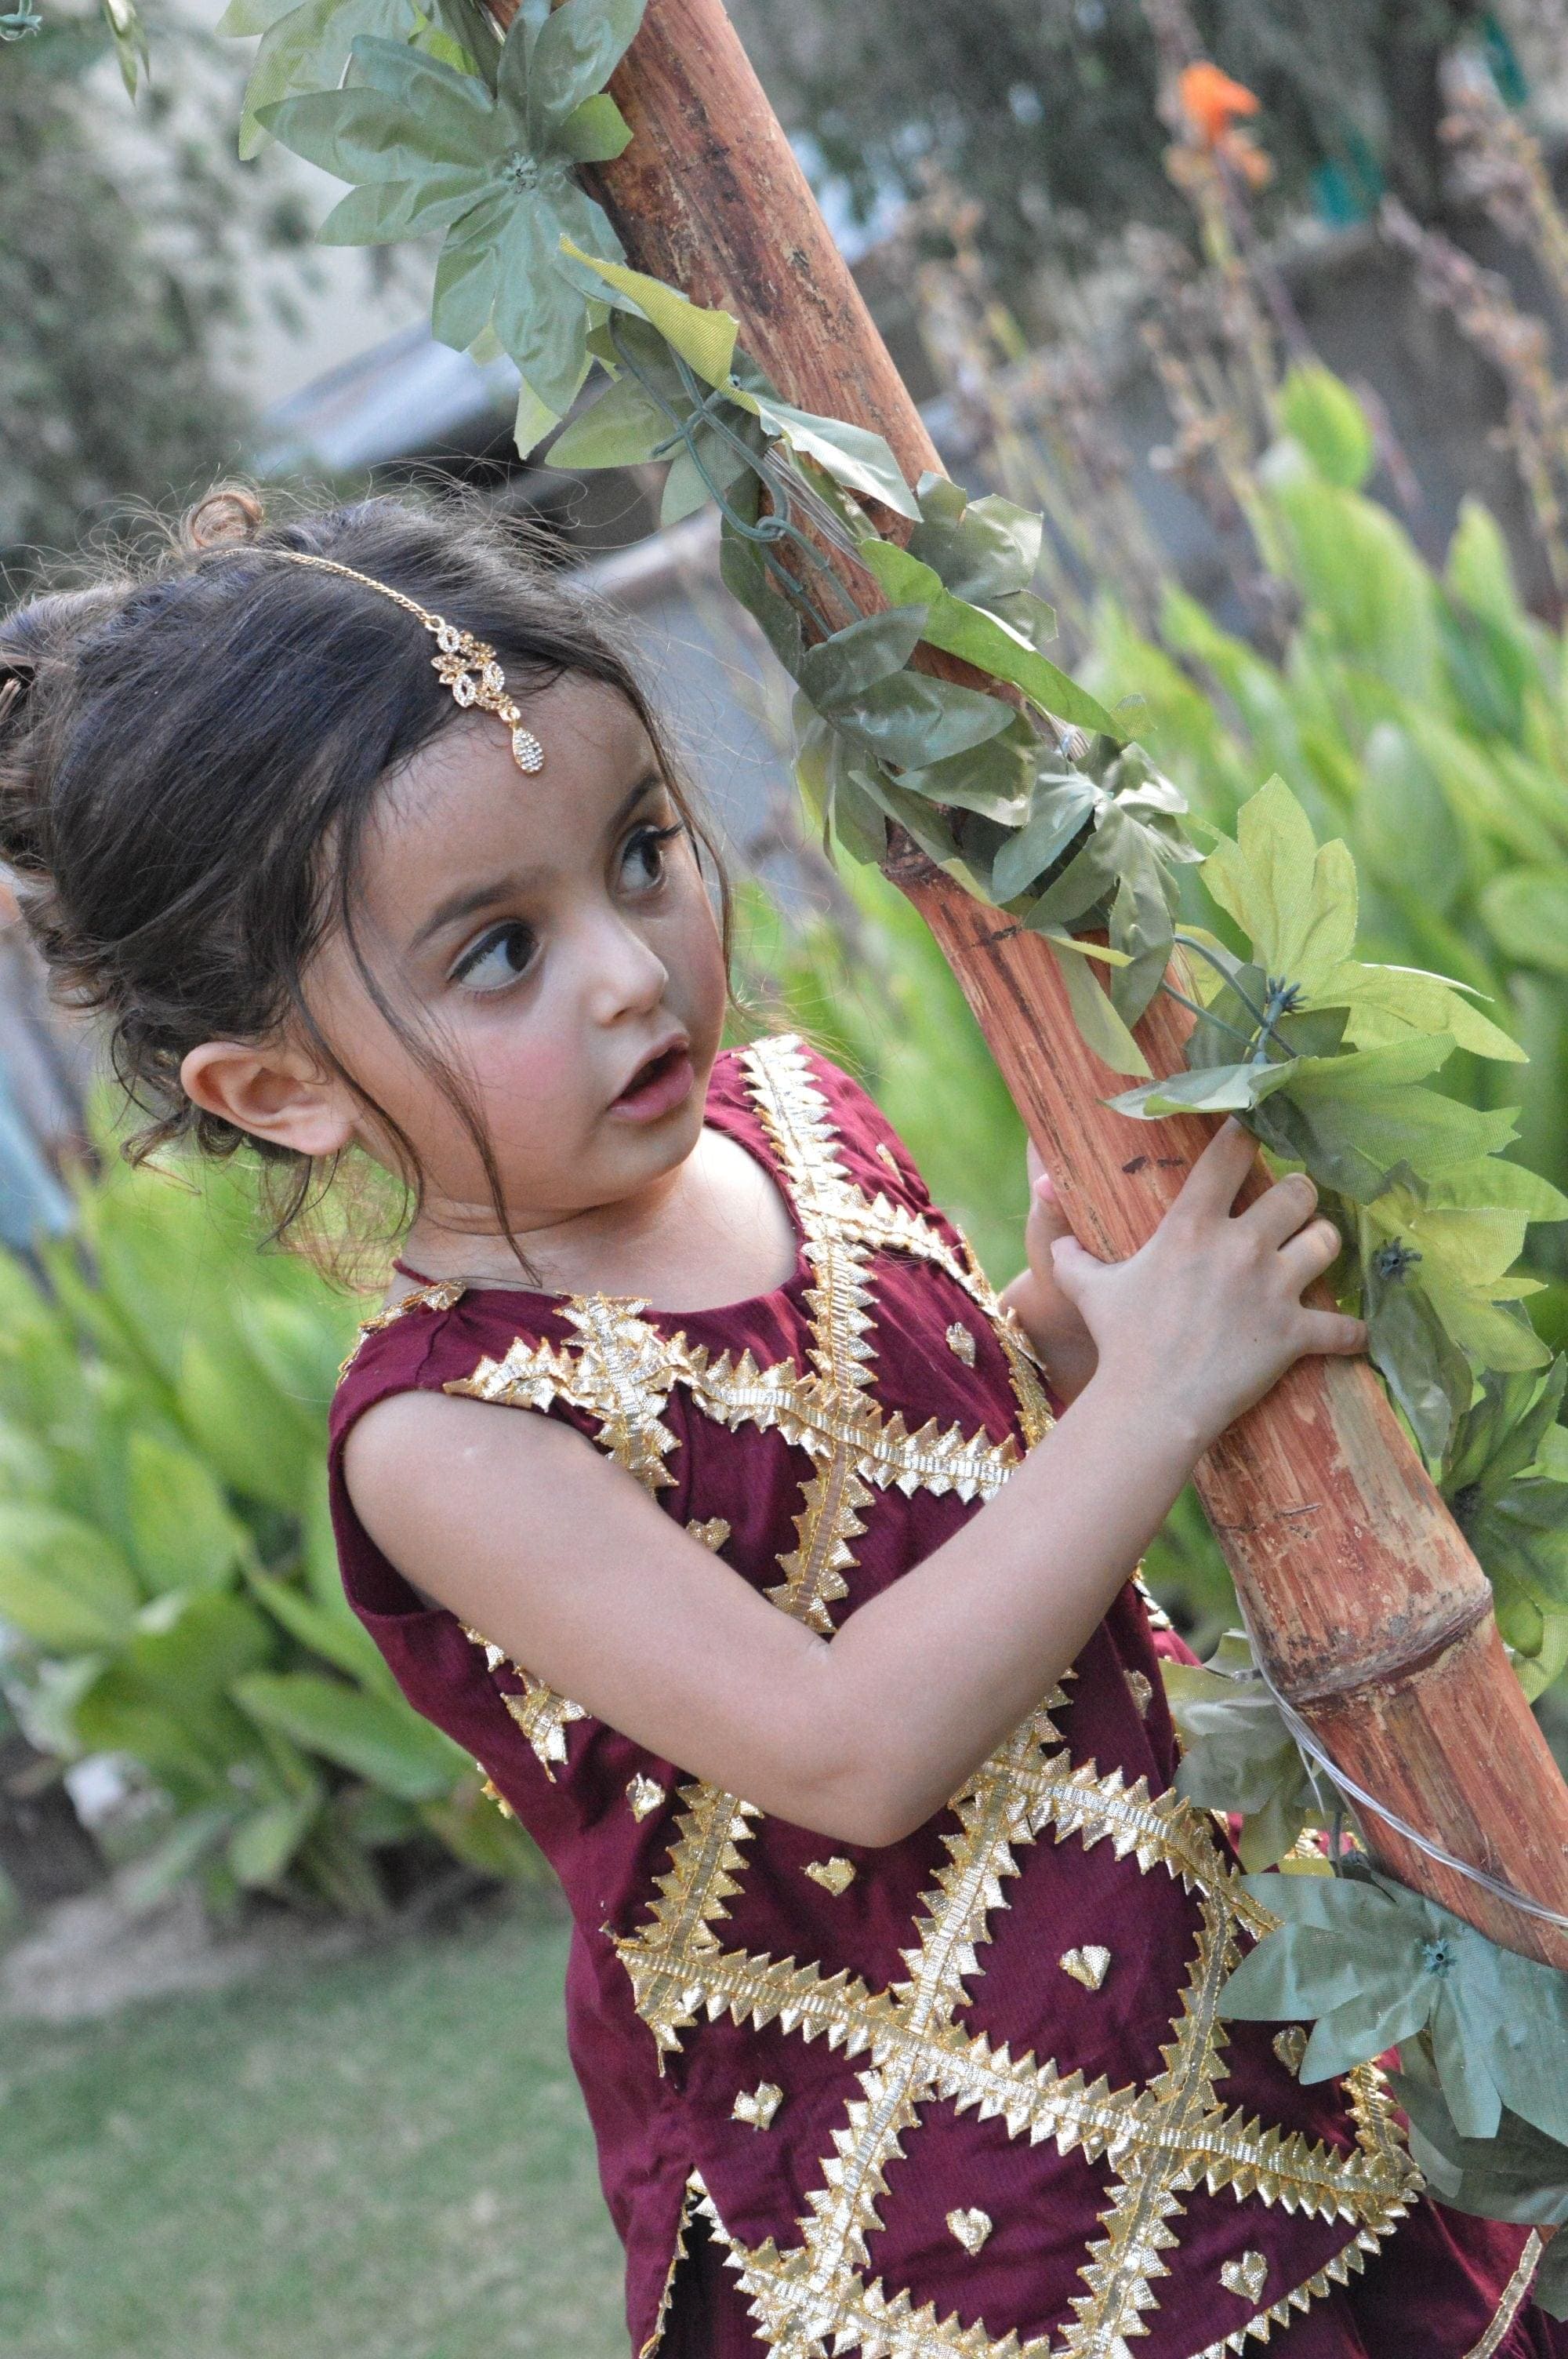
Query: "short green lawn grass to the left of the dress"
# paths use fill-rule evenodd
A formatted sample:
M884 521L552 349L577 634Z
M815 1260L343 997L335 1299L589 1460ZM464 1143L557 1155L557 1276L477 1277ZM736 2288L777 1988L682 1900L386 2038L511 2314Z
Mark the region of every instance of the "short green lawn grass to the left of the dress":
M533 1904L97 2024L0 2024L5 2359L625 2359Z

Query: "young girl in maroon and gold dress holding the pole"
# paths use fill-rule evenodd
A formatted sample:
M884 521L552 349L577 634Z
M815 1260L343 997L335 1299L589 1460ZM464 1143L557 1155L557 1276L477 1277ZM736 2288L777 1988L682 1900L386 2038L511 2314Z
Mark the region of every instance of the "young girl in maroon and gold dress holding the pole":
M474 524L226 495L12 616L0 679L0 849L144 1142L255 1146L285 1220L351 1154L410 1184L342 1571L571 1901L634 2352L1568 2350L1375 2074L1217 2012L1261 1927L1134 1566L1363 1345L1302 1305L1311 1184L1233 1215L1221 1130L1120 1267L1040 1187L997 1302L856 1083L719 1050L653 715Z

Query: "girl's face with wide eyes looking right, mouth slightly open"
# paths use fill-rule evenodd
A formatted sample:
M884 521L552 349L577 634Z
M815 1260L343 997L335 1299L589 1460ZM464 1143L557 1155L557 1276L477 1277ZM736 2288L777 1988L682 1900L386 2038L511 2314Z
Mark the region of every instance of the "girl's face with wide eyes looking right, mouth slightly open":
M545 769L500 724L446 729L365 830L356 937L396 1017L479 1111L516 1236L653 1191L698 1142L724 1026L719 929L632 708L564 675L528 698ZM420 1231L495 1234L483 1163L344 939L311 1012L413 1142ZM373 1154L384 1144L358 1116Z

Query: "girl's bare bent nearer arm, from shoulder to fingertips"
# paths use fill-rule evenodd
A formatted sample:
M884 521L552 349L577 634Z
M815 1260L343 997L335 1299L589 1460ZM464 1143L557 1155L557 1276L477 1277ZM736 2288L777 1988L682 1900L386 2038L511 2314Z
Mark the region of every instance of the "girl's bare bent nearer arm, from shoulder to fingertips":
M651 1753L839 1842L896 1842L1080 1654L1210 1441L1299 1356L1363 1347L1361 1321L1302 1305L1339 1246L1311 1182L1231 1215L1250 1168L1226 1125L1129 1262L1056 1243L1094 1378L832 1640L549 1418L396 1394L349 1437L356 1512L408 1581Z

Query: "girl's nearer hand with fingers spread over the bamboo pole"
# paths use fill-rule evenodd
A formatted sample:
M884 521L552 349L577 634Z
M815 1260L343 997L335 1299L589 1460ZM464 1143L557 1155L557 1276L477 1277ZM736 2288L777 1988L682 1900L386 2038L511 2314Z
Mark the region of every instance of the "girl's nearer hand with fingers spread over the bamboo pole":
M1313 1220L1311 1180L1278 1180L1231 1210L1252 1154L1240 1123L1226 1123L1127 1262L1099 1262L1070 1236L1052 1246L1056 1288L1099 1352L1099 1382L1137 1415L1174 1418L1198 1453L1297 1359L1368 1342L1361 1319L1302 1302L1339 1255L1335 1224Z

